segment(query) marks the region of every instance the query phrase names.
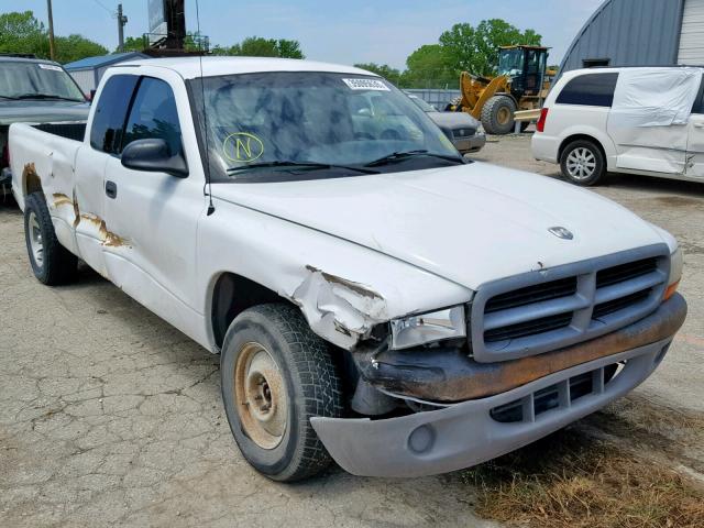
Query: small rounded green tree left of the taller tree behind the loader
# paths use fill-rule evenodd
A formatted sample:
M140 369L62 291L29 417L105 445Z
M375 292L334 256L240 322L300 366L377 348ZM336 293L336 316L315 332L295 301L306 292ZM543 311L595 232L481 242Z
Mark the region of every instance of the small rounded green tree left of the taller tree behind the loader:
M420 46L406 59L402 85L405 88L454 88L458 73L448 51L440 44Z

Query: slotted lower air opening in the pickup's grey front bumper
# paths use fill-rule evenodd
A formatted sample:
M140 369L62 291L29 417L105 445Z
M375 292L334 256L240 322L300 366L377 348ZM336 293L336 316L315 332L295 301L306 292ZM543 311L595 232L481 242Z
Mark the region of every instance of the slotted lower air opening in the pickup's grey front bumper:
M614 363L579 374L520 399L494 407L490 414L502 424L536 421L537 417L552 409L566 408L584 396L603 393L617 369L618 363Z

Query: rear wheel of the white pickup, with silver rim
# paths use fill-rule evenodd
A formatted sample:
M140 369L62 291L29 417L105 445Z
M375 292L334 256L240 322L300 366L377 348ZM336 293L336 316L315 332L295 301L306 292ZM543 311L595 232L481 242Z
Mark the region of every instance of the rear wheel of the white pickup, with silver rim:
M32 193L24 201L24 240L32 271L41 283L55 286L76 278L78 258L56 238L42 193Z

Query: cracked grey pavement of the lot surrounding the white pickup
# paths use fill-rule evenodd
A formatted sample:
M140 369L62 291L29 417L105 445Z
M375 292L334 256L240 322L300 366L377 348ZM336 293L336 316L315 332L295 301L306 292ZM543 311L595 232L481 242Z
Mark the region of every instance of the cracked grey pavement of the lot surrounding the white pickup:
M528 135L474 157L558 173L532 161ZM679 416L704 414L704 183L614 176L595 190L678 237L690 316L627 405L573 431L704 482L702 442L676 433ZM477 488L461 472L393 481L333 468L296 485L260 476L228 428L219 359L87 268L75 285L40 285L21 213L1 199L0 301L2 527L496 526L475 515ZM651 421L666 430L661 441L647 428L631 435L628 424Z

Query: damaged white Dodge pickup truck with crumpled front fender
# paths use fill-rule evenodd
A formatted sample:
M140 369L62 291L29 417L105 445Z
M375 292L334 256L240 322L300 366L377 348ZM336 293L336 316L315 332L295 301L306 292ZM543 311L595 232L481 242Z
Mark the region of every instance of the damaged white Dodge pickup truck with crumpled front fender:
M82 142L13 124L10 155L36 277L80 258L220 353L232 433L279 481L512 451L646 380L686 315L670 234L464 160L356 68L124 64Z

